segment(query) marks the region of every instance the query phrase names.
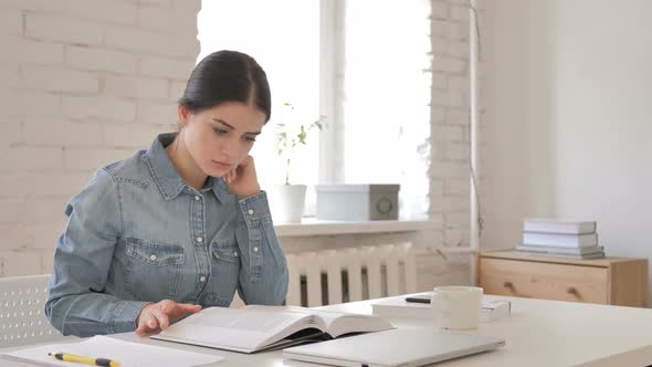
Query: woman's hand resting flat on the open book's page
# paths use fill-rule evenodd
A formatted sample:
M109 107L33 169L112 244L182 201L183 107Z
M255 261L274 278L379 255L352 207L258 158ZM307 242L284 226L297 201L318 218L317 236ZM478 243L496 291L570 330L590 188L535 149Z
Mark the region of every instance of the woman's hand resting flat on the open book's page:
M170 324L176 323L188 314L194 314L200 310L200 305L176 303L170 300L148 304L140 311L138 318L136 318L136 325L138 325L136 334L144 335L156 332L159 328L166 329Z

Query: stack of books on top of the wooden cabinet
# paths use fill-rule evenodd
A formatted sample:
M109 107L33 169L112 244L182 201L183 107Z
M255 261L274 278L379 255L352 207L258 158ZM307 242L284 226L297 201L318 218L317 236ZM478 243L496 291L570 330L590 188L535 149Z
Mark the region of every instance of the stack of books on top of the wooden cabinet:
M526 219L523 221L523 244L516 251L571 259L604 258L598 244L595 221Z

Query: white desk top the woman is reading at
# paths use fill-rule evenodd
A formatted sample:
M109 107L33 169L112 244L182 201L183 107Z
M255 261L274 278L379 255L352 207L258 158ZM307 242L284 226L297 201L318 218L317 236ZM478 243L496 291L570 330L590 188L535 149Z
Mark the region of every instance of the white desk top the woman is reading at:
M652 364L652 310L606 306L557 301L491 297L512 301L511 317L482 323L477 331L466 332L503 337L506 346L495 352L464 357L438 366L645 366ZM371 313L364 301L324 308ZM432 326L427 321L393 319L397 327ZM229 366L320 366L284 360L282 352L254 355L185 346L176 343L118 334L125 340L165 345L170 348L217 354ZM29 366L1 360L2 366ZM72 366L72 365L71 365Z

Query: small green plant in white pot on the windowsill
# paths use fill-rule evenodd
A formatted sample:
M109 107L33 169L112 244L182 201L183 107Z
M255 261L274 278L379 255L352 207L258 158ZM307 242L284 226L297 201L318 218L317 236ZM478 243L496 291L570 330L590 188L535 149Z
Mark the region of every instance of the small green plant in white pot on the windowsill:
M285 184L276 186L272 198L273 218L277 222L301 222L304 212L305 185L291 185L292 160L297 151L307 144L308 135L322 129L322 118L312 123L297 122L294 106L283 104L284 114L281 123L275 125L276 154L284 160Z

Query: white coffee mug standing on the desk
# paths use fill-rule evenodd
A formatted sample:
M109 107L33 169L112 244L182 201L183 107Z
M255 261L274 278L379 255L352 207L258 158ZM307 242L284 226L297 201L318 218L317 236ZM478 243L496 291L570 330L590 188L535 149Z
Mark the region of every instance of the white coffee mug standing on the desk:
M438 286L430 304L439 327L464 331L477 328L483 290L477 286Z

